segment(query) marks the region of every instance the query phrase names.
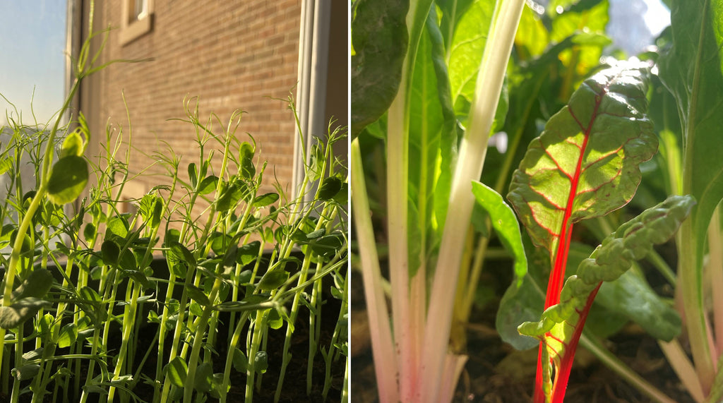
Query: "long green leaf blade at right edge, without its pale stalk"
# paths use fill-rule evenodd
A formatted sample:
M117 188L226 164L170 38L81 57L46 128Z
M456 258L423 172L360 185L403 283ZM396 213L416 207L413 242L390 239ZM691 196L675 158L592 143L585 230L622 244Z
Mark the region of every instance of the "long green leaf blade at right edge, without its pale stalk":
M683 192L698 201L690 222L701 240L699 253L713 210L723 199L722 14L720 0L673 1L673 45L659 61L660 79L675 96L683 139L690 149Z

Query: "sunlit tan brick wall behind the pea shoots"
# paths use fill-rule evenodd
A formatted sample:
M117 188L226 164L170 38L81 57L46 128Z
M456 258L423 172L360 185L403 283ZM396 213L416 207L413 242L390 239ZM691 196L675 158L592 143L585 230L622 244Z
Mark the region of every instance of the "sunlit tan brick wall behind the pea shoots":
M95 30L120 27L122 6L122 0L96 1ZM81 109L95 136L89 155L97 155L96 140L104 138L106 123L127 132L123 92L134 147L150 153L168 142L183 156L181 177L187 179L187 165L197 160L195 131L189 123L167 119L184 117L184 97L197 96L202 121L213 112L225 126L234 110L247 112L237 136L246 140L246 133L252 134L260 145L262 159L269 162L265 183L270 185L275 173L290 191L294 118L286 103L271 98L296 93L300 18L301 0L155 0L152 30L125 45L119 43L119 29L111 31L101 56L103 61L153 61L113 64L82 88ZM141 152L132 153L132 171L149 163ZM162 183L153 174L163 172L150 168L129 186L130 196Z

